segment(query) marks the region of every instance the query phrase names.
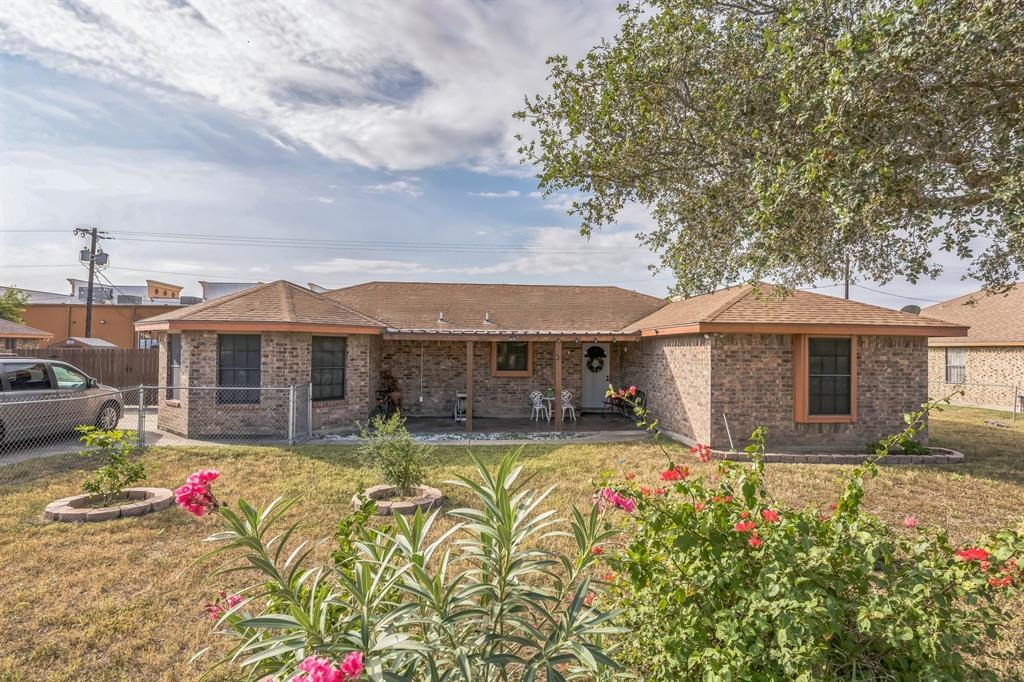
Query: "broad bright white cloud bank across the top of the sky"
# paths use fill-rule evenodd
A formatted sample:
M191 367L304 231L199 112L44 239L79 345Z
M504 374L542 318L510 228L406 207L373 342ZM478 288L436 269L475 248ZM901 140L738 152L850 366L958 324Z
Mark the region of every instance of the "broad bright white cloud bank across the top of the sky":
M516 167L511 114L547 56L617 29L614 1L0 3L3 50L153 96L199 97L274 143L404 170Z

